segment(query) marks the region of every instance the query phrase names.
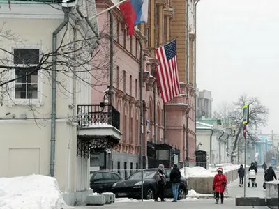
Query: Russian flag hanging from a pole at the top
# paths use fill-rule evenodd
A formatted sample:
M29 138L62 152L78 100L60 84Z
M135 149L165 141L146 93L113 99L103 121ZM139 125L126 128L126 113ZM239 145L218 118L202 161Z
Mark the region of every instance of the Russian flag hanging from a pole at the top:
M128 0L119 6L130 36L134 33L135 25L147 22L148 8L149 0Z

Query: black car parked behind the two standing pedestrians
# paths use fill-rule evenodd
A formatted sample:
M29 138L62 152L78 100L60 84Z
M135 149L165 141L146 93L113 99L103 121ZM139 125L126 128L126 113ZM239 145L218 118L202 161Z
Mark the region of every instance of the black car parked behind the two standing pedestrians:
M156 192L156 180L155 174L157 169L144 169L144 199L154 199L154 194ZM172 184L169 180L169 174L172 169L165 169L165 176L167 183L165 185L165 197L172 198ZM133 173L127 180L119 181L112 185L112 192L116 194L117 197L130 197L135 199L141 198L142 191L142 172L137 171ZM184 199L188 194L187 189L187 179L181 177L181 183L179 186L179 199Z

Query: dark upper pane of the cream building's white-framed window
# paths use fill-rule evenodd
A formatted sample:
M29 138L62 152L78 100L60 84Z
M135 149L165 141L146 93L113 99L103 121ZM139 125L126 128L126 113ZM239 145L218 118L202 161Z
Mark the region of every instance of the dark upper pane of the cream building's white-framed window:
M14 63L36 65L40 61L40 49L14 49Z

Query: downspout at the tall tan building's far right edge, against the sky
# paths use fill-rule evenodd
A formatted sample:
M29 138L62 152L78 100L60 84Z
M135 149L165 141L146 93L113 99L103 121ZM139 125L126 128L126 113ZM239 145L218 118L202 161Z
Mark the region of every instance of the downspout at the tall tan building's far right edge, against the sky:
M194 29L195 29L195 40L194 40L194 84L195 84L195 121L197 121L197 3L194 3ZM195 147L197 147L197 123L195 123Z

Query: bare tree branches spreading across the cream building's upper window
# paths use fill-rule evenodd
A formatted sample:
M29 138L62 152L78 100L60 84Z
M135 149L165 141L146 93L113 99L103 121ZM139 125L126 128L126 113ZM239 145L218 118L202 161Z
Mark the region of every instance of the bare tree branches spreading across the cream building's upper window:
M59 93L68 95L69 79L90 85L92 88L108 84L108 70L110 53L108 40L108 26L103 25L96 36L96 31L84 22L68 21L61 31L57 47L53 49L24 49L28 40L23 40L16 33L8 29L8 24L0 28L0 105L5 100L22 98L21 88L26 88L24 99L32 98L38 92L36 84L32 87L31 79L38 77L38 73L47 77L44 82L52 83L52 72L56 71L59 79L56 80ZM69 34L71 36L69 36ZM10 51L6 42L20 45ZM55 56L55 59L54 59ZM56 68L53 68L55 62ZM13 76L11 76L13 75ZM95 82L94 82L95 81ZM29 87L27 87L27 85ZM30 102L30 109L31 107Z

